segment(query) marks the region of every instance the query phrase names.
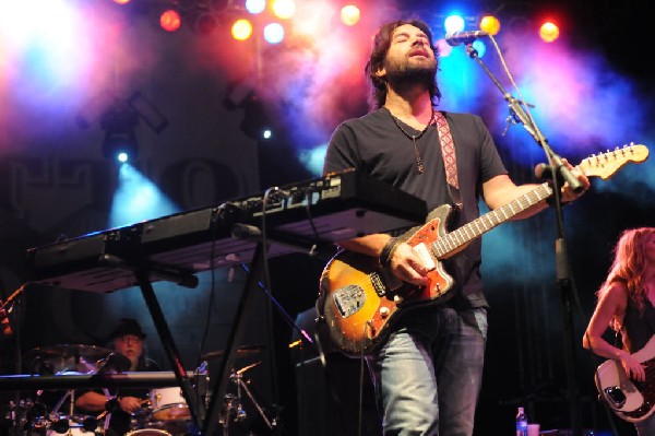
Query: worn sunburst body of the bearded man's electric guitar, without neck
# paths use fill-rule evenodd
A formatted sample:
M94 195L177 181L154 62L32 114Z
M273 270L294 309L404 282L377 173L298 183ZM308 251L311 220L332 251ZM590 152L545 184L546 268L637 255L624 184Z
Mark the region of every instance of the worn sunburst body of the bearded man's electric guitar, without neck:
M425 225L409 229L401 239L425 255L422 248L445 234L451 209L448 204L434 209ZM400 317L400 308L443 303L450 297L453 280L439 259L431 260L433 268L422 287L398 281L369 256L343 250L327 262L321 275L319 309L330 328L331 340L344 354L355 356L373 351Z

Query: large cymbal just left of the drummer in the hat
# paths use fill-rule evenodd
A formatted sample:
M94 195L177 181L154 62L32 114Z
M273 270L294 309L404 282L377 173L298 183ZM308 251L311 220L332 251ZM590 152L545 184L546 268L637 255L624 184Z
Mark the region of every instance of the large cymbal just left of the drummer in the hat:
M56 373L62 370L87 372L100 358L111 353L109 349L84 344L60 344L37 347L28 351L23 356L26 364L34 364L37 360L50 364Z

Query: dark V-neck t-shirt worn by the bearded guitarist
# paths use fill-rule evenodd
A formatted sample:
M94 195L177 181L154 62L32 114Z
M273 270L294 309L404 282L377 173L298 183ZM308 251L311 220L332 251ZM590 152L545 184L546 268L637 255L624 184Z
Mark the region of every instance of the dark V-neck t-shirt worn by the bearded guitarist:
M449 227L455 229L479 216L481 184L508 174L491 134L483 120L472 114L442 113L449 123L457 161L457 179L463 203ZM420 132L398 120L409 134ZM425 172L418 174L414 143L395 125L385 108L341 123L334 131L323 166L323 174L347 168L366 173L407 191L427 203L428 210L452 204L441 143L436 126L416 140ZM481 239L474 239L463 251L443 262L455 280L453 304L486 307L480 280Z

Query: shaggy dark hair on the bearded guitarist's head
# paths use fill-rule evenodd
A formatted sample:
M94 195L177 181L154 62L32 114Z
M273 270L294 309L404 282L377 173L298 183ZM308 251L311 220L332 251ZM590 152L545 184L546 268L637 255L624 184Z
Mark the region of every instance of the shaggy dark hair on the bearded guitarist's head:
M432 31L426 22L418 19L406 19L383 24L373 39L373 49L365 68L365 73L370 81L369 106L371 109L382 107L386 99L386 79L378 76L376 71L384 67L384 58L391 46L393 32L405 24L420 28L428 36L430 48L437 59L437 68L439 68L439 49L432 43ZM434 76L432 86L428 91L430 92L432 104L437 104L441 98L441 91L439 91L439 86L437 85L437 76Z

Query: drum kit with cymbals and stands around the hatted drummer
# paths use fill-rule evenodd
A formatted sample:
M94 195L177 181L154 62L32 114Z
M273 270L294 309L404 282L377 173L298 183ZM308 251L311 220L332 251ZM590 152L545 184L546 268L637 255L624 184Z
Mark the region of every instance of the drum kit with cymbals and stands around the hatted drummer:
M238 356L254 355L261 351L261 345L243 346L238 350ZM105 361L108 362L111 350L94 345L63 344L38 347L23 356L25 368L31 375L94 375L100 372ZM207 361L223 355L222 351L211 352L201 356L203 367ZM255 410L269 428L275 425L258 403L249 381L243 380L243 374L258 366L261 362L231 372L230 382L236 386L236 393L226 393L218 417L223 435L228 436L233 423L241 423L247 419L243 409L245 393L254 404ZM199 368L200 369L200 368ZM209 375L204 370L205 382L199 382L199 397L209 404ZM22 396L22 394L21 394ZM106 433L104 422L107 412L99 415L78 414L75 406L75 390L62 391L37 390L27 398L13 398L1 409L0 427L7 426L9 432L2 435L11 436L103 436ZM181 436L188 433L191 413L180 387L150 389L144 399L143 409L132 414L130 431L124 436ZM3 428L0 428L2 431Z

